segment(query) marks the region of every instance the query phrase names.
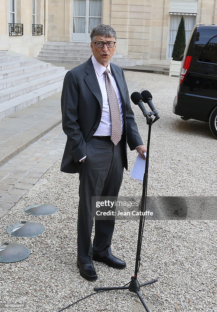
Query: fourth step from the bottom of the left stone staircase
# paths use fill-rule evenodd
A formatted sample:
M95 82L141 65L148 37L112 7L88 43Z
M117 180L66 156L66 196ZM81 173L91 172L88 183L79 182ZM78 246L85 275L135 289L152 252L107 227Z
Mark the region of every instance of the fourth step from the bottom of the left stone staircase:
M50 63L37 62L37 63L32 64L32 65L21 66L19 68L12 68L9 70L0 71L0 79L7 79L10 77L23 75L26 73L42 70L42 69L49 68L49 67L51 67Z

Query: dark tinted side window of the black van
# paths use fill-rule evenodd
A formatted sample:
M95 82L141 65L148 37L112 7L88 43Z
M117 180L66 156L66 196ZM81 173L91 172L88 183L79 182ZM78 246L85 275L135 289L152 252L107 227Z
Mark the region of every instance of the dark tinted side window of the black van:
M199 62L217 64L217 36L210 39L201 52Z

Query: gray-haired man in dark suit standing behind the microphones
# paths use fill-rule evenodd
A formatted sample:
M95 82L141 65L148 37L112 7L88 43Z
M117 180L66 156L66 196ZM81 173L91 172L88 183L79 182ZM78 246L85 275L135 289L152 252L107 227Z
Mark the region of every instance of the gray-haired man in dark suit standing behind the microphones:
M109 62L116 51L116 38L109 25L93 28L93 55L67 72L61 97L62 126L67 134L61 171L79 172L77 266L87 280L97 279L92 260L114 268L126 266L111 254L114 220L95 220L92 246L91 197L118 196L124 167L127 170L126 144L143 158L146 152L123 70Z

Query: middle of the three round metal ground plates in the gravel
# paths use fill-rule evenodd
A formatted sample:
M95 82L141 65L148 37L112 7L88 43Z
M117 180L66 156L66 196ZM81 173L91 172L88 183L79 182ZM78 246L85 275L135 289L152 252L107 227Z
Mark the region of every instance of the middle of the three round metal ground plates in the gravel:
M6 232L15 237L36 237L44 232L44 227L37 222L22 221L7 227Z

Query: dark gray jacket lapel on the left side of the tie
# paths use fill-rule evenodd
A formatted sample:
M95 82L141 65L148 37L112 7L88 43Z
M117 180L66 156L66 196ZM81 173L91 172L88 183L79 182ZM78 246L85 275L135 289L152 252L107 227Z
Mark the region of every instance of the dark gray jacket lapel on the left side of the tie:
M86 84L88 85L93 95L95 95L97 100L99 101L102 112L102 94L98 80L96 78L96 73L93 67L93 63L91 61L91 57L87 60L86 73L88 75L84 78L84 80L86 81Z

